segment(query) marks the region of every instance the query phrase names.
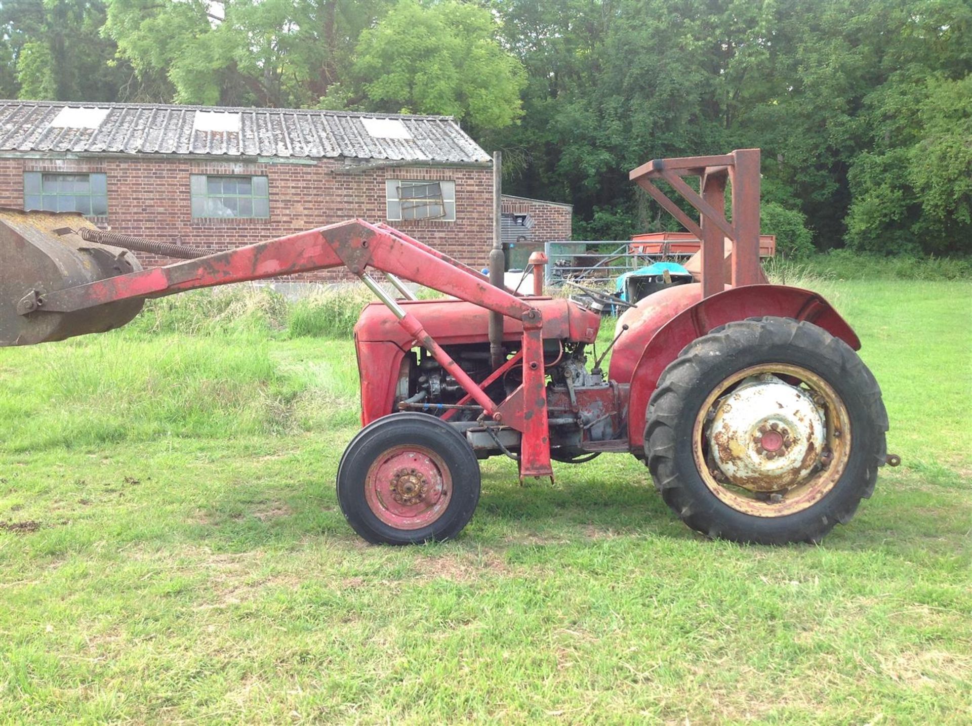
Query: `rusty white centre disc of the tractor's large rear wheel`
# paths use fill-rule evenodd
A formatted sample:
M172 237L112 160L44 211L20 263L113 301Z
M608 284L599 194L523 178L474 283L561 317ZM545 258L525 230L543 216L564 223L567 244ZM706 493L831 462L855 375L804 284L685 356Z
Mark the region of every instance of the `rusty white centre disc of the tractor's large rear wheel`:
M719 474L754 492L801 483L824 450L826 423L811 394L764 373L744 379L714 406L707 431Z

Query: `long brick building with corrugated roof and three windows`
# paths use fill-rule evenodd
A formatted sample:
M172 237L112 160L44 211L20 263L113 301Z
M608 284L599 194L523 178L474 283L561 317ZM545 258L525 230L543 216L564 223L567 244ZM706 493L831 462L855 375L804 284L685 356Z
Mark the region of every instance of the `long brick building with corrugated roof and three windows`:
M481 267L492 173L448 117L0 101L0 206L213 251L361 217Z

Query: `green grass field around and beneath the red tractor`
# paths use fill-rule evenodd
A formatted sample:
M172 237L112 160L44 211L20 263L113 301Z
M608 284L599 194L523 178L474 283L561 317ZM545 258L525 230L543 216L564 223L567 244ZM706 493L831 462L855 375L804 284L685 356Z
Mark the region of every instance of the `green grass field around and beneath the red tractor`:
M816 547L697 536L621 455L364 545L353 346L273 301L0 350L0 720L972 722L972 286L827 288L904 463Z

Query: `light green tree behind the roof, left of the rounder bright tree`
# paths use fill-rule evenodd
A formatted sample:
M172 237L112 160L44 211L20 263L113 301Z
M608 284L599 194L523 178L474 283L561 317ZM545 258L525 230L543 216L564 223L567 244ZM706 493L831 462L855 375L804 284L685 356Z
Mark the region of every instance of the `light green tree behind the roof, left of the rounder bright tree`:
M314 104L352 62L386 0L108 0L105 32L140 76L165 73L178 103Z

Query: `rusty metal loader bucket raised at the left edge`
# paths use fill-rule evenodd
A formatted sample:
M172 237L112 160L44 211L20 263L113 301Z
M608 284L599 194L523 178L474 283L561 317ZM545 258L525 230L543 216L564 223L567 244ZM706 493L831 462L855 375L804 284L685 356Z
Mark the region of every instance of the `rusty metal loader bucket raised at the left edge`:
M138 315L140 299L69 313L17 312L25 295L43 296L142 269L127 250L83 240L77 233L83 226L94 227L77 212L0 208L0 346L104 332Z

